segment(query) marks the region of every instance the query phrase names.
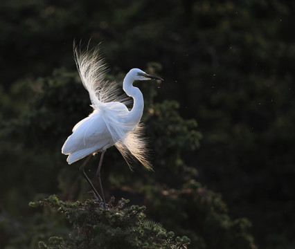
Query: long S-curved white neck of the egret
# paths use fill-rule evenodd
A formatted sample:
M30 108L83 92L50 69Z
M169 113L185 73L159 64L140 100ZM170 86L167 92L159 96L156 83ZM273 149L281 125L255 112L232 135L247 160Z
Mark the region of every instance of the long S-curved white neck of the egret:
M129 97L133 98L133 108L129 111L128 121L134 124L138 124L141 121L141 116L143 116L143 94L141 91L133 86L134 80L127 74L123 81L123 90Z

